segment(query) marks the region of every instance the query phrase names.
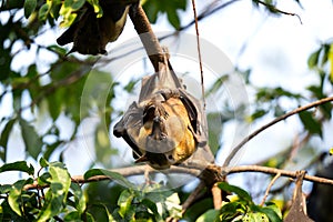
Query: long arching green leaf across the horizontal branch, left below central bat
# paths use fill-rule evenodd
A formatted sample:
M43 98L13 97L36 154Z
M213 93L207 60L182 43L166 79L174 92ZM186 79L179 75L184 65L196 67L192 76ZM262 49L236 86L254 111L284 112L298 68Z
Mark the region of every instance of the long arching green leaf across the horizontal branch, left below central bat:
M91 170L87 171L84 173L84 180L88 180L95 175L105 175L125 188L135 189L135 185L133 183L131 183L130 181L128 181L120 173L112 172L109 170L103 170L103 169L91 169Z

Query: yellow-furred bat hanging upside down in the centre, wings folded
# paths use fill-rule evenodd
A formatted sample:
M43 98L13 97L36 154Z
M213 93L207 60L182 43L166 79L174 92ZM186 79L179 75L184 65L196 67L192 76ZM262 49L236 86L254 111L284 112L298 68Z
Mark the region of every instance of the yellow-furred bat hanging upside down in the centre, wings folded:
M196 150L209 149L201 103L186 92L168 58L159 72L142 79L139 101L133 102L114 125L133 150L135 162L163 170L188 160ZM210 150L205 150L212 162Z

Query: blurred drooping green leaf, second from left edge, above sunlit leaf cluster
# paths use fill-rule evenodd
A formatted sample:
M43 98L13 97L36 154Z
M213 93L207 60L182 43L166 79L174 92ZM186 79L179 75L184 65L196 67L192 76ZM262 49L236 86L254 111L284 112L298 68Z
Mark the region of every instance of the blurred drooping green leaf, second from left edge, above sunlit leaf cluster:
M26 144L26 150L34 160L37 160L43 145L42 140L37 134L34 128L24 119L20 118L19 123L21 125L21 133Z

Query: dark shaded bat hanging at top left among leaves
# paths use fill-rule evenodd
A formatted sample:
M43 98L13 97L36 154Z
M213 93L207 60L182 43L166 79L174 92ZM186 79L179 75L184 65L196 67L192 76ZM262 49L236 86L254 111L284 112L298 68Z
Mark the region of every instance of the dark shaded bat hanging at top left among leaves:
M103 16L97 18L91 4L85 3L79 19L58 39L60 46L73 42L71 52L105 54L105 46L121 34L129 11L128 4L115 0L101 0Z

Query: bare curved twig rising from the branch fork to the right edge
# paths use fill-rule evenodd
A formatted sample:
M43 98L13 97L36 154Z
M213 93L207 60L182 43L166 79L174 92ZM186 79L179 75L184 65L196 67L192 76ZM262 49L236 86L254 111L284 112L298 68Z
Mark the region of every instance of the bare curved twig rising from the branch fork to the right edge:
M294 115L296 113L300 113L302 111L305 111L305 110L309 110L311 108L314 108L314 107L317 107L317 105L321 105L321 104L324 104L326 102L331 102L333 101L333 97L330 97L330 98L324 98L324 99L321 99L321 100L317 100L315 102L312 102L310 104L306 104L304 107L300 107L291 112L287 112L276 119L274 119L273 121L264 124L263 127L259 128L258 130L255 130L254 132L252 132L250 135L248 135L246 138L244 138L236 147L234 147L231 151L231 153L228 155L228 158L225 159L224 163L223 163L223 167L228 167L231 162L231 160L233 159L233 157L241 150L241 148L246 144L251 139L253 139L254 137L256 137L259 133L261 133L262 131L266 130L268 128L272 127L273 124L282 121L282 120L285 120L286 118L291 117L291 115Z

